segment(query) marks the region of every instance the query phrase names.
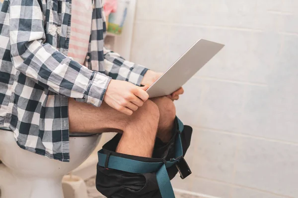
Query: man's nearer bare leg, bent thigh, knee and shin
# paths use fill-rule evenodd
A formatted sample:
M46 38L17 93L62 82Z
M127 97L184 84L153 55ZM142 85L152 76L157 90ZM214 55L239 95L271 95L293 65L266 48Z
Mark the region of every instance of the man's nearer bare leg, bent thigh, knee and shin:
M70 131L123 133L116 151L124 154L151 157L158 121L158 107L150 100L128 116L106 103L94 107L69 99Z

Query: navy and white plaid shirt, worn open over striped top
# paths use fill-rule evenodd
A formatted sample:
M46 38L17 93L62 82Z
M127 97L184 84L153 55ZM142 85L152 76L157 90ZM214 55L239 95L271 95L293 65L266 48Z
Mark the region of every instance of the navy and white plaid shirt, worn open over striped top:
M4 0L0 12L0 126L20 148L70 161L68 98L100 106L110 79L140 85L147 69L103 48L93 0L86 67L68 57L71 0Z

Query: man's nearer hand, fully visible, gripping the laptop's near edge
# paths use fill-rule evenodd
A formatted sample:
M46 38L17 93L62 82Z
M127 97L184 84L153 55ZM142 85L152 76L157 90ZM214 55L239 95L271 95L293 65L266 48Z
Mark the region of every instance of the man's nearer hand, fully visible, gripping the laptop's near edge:
M103 100L112 108L131 115L149 98L147 89L148 86L138 87L126 81L111 80Z

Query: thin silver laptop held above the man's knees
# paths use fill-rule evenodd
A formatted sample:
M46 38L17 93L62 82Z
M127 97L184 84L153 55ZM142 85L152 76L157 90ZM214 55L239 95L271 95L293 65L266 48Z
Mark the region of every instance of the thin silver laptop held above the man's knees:
M197 41L148 88L149 98L172 94L223 47L223 44L204 39Z

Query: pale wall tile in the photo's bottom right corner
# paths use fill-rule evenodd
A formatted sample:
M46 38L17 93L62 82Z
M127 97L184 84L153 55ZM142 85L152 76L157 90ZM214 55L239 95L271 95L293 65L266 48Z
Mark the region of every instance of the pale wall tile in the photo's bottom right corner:
M298 146L241 138L234 183L289 197L298 195Z

